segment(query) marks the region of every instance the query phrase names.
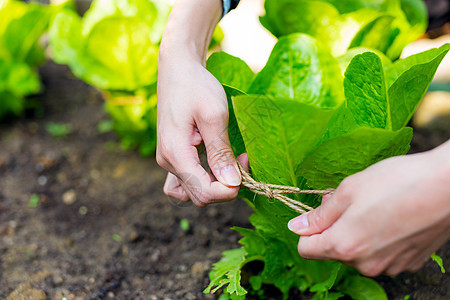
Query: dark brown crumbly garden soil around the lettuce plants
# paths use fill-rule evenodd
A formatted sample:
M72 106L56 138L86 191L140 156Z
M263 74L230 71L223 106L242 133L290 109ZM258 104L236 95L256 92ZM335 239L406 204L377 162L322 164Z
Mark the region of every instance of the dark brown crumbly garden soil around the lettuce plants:
M97 130L107 119L99 92L53 63L40 73L42 108L0 125L0 298L216 299L202 294L208 271L223 250L238 247L229 228L250 227L251 209L242 200L197 208L168 198L153 158ZM49 122L73 130L57 138ZM449 137L416 131L412 151ZM450 243L438 254L450 269ZM390 299L450 298L450 277L433 262L377 280Z

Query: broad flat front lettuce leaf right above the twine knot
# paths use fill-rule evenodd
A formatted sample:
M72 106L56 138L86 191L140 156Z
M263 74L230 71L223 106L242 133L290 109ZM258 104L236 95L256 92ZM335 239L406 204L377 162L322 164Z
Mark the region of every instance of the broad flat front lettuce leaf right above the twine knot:
M319 142L332 111L266 96L234 97L233 106L256 178L300 185L298 164Z

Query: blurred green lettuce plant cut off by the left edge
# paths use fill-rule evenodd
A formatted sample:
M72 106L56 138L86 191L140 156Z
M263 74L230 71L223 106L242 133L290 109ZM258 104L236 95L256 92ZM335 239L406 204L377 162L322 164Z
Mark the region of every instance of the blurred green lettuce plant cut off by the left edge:
M39 4L0 0L0 120L20 115L25 97L41 89L35 70L44 61L39 39L51 15Z

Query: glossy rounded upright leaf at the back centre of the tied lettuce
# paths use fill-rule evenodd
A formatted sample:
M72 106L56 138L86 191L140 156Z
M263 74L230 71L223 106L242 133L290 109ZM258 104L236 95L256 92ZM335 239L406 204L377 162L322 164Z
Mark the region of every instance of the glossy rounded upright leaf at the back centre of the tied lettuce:
M321 107L336 107L344 100L337 60L325 46L304 34L280 38L248 93Z

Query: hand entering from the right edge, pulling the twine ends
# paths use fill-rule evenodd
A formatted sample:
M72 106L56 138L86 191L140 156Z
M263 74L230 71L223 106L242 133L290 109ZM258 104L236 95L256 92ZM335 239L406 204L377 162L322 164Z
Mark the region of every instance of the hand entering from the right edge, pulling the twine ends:
M289 222L307 259L366 276L416 271L450 237L450 142L393 157L345 179L317 209Z

